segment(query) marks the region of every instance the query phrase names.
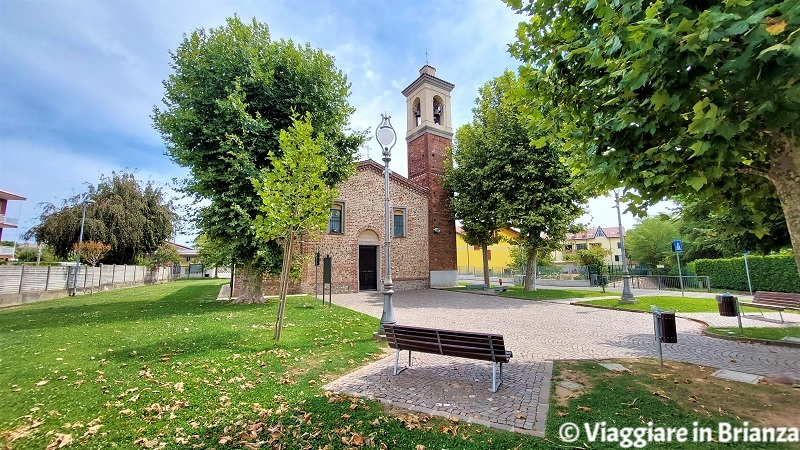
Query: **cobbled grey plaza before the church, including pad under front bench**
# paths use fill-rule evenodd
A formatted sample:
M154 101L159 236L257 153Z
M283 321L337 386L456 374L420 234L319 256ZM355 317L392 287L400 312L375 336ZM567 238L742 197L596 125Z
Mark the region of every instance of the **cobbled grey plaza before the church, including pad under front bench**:
M334 295L333 302L374 317L380 317L383 310L380 293ZM392 357L362 367L326 388L542 436L553 360L657 357L652 314L443 290L397 292L394 306L398 324L502 334L514 357L505 365L498 391L490 390L490 363L413 353L411 368L394 376L393 352ZM784 317L787 324L800 325L800 316ZM716 314L693 314L692 318L715 326L737 325L735 317ZM777 314L770 313L743 321L745 326L781 325ZM679 317L676 322L678 343L663 346L665 359L800 382L800 348L707 337L701 334L704 326L698 321ZM400 360L407 363L406 352Z

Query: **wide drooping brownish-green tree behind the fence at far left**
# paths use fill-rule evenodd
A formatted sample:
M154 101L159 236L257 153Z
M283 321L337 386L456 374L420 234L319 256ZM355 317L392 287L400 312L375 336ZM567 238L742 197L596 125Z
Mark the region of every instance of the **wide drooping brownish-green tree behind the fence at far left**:
M25 239L47 244L60 258L67 258L79 241L83 214L83 195L63 201L61 207L43 204L39 225L28 230ZM173 232L178 217L161 188L152 182L136 180L133 173L112 172L101 176L97 186L88 185L84 238L106 242L111 250L103 261L133 264L136 258L152 252Z

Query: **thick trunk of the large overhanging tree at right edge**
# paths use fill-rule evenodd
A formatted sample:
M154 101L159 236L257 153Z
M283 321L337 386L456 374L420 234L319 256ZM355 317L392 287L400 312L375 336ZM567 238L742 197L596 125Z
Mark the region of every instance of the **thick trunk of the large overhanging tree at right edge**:
M792 252L800 275L800 148L794 134L781 135L770 145L768 178L775 185L781 201Z

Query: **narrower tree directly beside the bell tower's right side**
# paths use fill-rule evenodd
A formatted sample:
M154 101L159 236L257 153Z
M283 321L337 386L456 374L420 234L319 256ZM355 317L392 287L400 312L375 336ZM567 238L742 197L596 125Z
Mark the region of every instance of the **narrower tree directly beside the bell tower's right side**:
M473 122L456 130L451 148L453 164L446 165L444 187L451 195L450 209L461 221L464 242L481 247L483 282L489 286L488 247L500 242L497 230L499 197L494 191L495 169L501 161L495 159L481 141L483 124Z

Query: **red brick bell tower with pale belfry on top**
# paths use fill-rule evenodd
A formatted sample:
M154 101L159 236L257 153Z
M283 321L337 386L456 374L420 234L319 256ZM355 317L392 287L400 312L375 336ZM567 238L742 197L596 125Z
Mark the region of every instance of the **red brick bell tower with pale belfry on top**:
M454 84L424 65L403 89L408 131L408 179L428 189L428 261L431 287L458 285L456 224L450 196L442 186L447 149L453 142L450 92Z

